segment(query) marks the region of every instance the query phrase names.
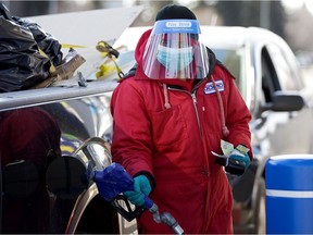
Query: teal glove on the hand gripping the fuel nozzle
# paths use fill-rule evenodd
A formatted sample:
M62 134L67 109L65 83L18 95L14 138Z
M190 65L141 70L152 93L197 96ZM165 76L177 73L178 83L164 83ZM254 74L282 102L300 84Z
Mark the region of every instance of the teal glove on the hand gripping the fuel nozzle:
M138 175L134 178L134 190L124 191L124 196L135 206L145 203L145 196L151 193L151 185L147 176Z

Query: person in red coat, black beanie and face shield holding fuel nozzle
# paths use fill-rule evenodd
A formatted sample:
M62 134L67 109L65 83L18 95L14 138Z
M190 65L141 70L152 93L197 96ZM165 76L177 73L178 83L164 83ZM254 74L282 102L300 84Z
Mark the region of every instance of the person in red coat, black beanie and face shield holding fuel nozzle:
M225 140L246 147L230 159L246 168L252 160L251 114L235 77L201 44L199 22L183 5L159 11L135 58L135 75L111 100L113 161L134 177L124 195L136 206L149 195L187 234L231 234L231 189L212 151L222 153ZM172 233L149 212L137 222L139 233Z

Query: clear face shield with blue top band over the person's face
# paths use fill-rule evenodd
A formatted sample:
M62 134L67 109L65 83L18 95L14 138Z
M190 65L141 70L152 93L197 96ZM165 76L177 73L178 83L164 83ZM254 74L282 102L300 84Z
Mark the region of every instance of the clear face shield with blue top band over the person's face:
M143 52L143 72L152 79L203 79L209 74L208 51L196 20L155 22Z

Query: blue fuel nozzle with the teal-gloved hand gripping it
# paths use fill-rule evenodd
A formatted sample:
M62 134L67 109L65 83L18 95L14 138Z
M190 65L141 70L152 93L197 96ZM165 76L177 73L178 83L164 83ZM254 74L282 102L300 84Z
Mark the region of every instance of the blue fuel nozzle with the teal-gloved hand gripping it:
M100 196L110 201L127 221L134 220L148 209L153 214L156 223L168 225L175 234L184 234L184 230L176 220L167 212L160 214L158 206L147 196L151 191L151 186L145 175L133 178L122 165L112 163L103 171L96 171L92 177ZM121 195L122 193L123 195ZM126 195L128 195L128 198L125 197ZM125 200L125 198L134 201L136 206L135 211L132 211L128 200ZM123 200L128 210L121 207L118 200Z

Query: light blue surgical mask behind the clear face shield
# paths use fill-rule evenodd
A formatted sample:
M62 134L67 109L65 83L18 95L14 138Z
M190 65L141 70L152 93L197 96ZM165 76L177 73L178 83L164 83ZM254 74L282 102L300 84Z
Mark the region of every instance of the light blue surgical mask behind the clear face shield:
M191 63L192 48L168 48L160 45L156 59L170 73L177 73Z

